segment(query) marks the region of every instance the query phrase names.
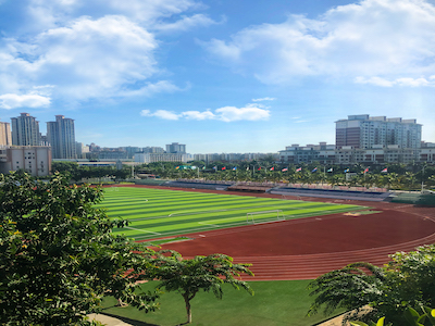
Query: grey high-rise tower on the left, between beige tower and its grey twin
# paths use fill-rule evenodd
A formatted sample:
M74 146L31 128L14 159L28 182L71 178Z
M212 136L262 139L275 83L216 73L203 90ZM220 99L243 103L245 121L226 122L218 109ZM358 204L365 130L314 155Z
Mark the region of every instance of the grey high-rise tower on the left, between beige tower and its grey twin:
M18 117L11 117L12 145L39 146L39 122L28 113L21 113Z

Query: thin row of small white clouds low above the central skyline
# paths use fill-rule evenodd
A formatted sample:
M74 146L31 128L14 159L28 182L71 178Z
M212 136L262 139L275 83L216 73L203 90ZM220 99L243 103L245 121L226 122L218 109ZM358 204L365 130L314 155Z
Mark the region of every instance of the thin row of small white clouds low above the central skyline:
M171 111L158 110L152 113L150 110L142 110L140 112L142 116L156 116L163 120L179 120L182 117L186 120L217 120L223 122L236 122L236 121L264 121L269 120L270 111L260 104L247 104L245 108L236 106L224 106L214 110L214 113L210 110L200 111L185 111L176 114Z

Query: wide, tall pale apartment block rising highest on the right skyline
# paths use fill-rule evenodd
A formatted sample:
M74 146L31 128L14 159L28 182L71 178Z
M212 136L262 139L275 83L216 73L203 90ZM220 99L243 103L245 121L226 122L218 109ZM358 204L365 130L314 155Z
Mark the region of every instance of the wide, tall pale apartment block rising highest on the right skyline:
M415 120L360 114L349 115L347 120L339 120L335 124L337 149L372 149L390 145L397 145L399 148L420 148L422 125Z

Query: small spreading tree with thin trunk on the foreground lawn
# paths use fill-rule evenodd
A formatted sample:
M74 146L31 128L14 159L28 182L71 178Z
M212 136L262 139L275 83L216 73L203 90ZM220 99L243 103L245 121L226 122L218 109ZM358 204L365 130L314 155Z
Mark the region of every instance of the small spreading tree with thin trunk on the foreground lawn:
M166 255L167 253L171 255ZM231 284L235 289L243 288L253 294L249 285L235 277L246 273L249 264L234 264L233 259L225 254L198 255L191 260L184 260L177 252L162 250L158 252L156 265L159 267L157 278L161 280L159 288L167 291L178 291L185 301L187 324L191 323L190 300L200 291L212 291L217 299L222 299L223 284Z

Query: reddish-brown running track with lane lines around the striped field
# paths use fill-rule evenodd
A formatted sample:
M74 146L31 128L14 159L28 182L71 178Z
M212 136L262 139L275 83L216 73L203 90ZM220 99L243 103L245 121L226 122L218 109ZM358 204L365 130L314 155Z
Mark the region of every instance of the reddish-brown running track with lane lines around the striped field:
M269 193L234 195L281 198ZM334 202L320 198L303 200ZM278 280L312 279L353 262L383 265L391 253L435 242L435 208L388 202L346 203L382 212L360 216L332 214L189 234L194 240L167 243L163 249L176 250L185 258L225 253L235 263L252 264L250 269L256 276L244 276L244 280Z

